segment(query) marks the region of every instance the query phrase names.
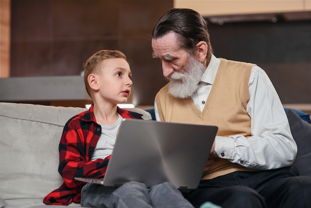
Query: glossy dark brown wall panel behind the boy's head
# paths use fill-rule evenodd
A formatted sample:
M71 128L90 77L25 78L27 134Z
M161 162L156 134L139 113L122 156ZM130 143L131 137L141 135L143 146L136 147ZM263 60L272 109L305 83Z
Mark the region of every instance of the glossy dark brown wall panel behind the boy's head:
M135 104L153 104L166 82L150 34L172 7L173 0L12 0L11 76L79 75L90 55L117 49L131 63Z

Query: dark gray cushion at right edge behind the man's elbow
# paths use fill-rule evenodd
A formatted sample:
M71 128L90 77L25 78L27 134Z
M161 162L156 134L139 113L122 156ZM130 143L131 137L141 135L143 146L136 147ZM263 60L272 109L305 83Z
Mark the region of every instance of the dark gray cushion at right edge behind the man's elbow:
M292 109L287 111L287 117L298 147L293 166L301 175L311 176L311 124L301 119Z

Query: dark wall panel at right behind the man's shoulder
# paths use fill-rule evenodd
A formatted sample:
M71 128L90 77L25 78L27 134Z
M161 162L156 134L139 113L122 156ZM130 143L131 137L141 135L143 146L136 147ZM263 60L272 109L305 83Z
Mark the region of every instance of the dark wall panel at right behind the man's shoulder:
M255 63L283 104L311 104L311 21L209 24L217 57Z

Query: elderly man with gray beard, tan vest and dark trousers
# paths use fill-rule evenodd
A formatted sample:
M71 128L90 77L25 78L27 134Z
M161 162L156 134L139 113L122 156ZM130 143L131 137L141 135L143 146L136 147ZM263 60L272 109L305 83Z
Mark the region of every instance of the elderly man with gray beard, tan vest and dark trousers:
M297 145L266 73L216 58L206 22L192 9L167 11L152 49L169 81L156 95L156 120L219 127L200 185L181 190L184 197L195 207L310 208L311 178L291 167Z

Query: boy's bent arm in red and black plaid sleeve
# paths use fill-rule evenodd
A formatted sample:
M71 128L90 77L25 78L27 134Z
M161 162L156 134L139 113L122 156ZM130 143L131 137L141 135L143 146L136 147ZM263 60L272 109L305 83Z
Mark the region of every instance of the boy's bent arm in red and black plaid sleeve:
M89 157L89 151L94 150L99 135L96 135L94 124L89 124L87 129L82 128L78 120L65 125L59 145L59 173L69 188L84 183L75 180L75 177L104 177L110 157L94 161L90 161Z

